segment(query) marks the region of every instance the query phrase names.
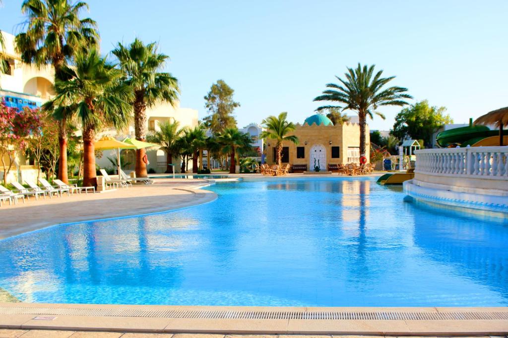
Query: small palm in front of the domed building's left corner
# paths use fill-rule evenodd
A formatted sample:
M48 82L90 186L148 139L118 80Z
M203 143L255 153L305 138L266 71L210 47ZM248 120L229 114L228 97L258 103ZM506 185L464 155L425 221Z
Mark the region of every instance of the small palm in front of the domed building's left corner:
M295 135L288 135L295 130L296 126L293 122L289 122L286 118L287 112L281 112L278 117L269 116L262 121L262 124L267 130L261 132L259 137L274 139L277 144L277 163L279 167L282 165L282 142L289 141L298 144L298 137Z

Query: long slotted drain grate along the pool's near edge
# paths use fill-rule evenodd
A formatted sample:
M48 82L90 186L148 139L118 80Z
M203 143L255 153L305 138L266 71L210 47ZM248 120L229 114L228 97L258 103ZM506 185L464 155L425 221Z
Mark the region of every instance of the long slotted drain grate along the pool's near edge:
M60 315L194 319L508 320L508 312L320 312L234 310L59 309L0 307L0 315Z

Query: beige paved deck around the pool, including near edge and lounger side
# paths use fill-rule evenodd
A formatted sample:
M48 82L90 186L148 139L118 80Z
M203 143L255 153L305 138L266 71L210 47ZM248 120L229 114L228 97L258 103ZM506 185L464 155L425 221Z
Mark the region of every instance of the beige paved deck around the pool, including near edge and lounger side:
M262 177L234 175L232 177ZM317 175L316 175L317 176ZM288 178L304 177L290 175ZM312 177L312 176L305 176ZM319 175L319 177L322 177ZM270 177L267 177L270 179ZM174 210L211 202L211 182L157 179L101 194L0 208L0 238L53 224ZM197 189L205 187L205 189ZM488 336L508 333L508 308L276 308L0 303L0 338L289 338L331 335Z

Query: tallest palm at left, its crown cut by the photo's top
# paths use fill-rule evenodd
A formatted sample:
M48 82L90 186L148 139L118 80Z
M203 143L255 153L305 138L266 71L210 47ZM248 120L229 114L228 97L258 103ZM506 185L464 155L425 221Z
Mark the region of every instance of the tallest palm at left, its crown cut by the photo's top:
M88 10L84 2L25 0L21 11L27 17L23 23L26 31L16 35L16 49L23 62L37 66L51 64L55 78L61 78L61 69L67 61L78 51L99 43L97 23L90 18L79 18L83 10ZM66 183L68 122L68 117L60 116L58 178Z

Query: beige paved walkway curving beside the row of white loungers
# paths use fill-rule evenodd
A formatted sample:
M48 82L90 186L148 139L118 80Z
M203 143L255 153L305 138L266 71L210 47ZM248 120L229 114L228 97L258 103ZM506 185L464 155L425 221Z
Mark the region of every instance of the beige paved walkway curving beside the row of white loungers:
M97 194L63 195L0 208L0 239L46 228L58 223L130 216L174 210L213 201L215 193L196 189L206 180L157 179L155 184L135 184L130 188Z

